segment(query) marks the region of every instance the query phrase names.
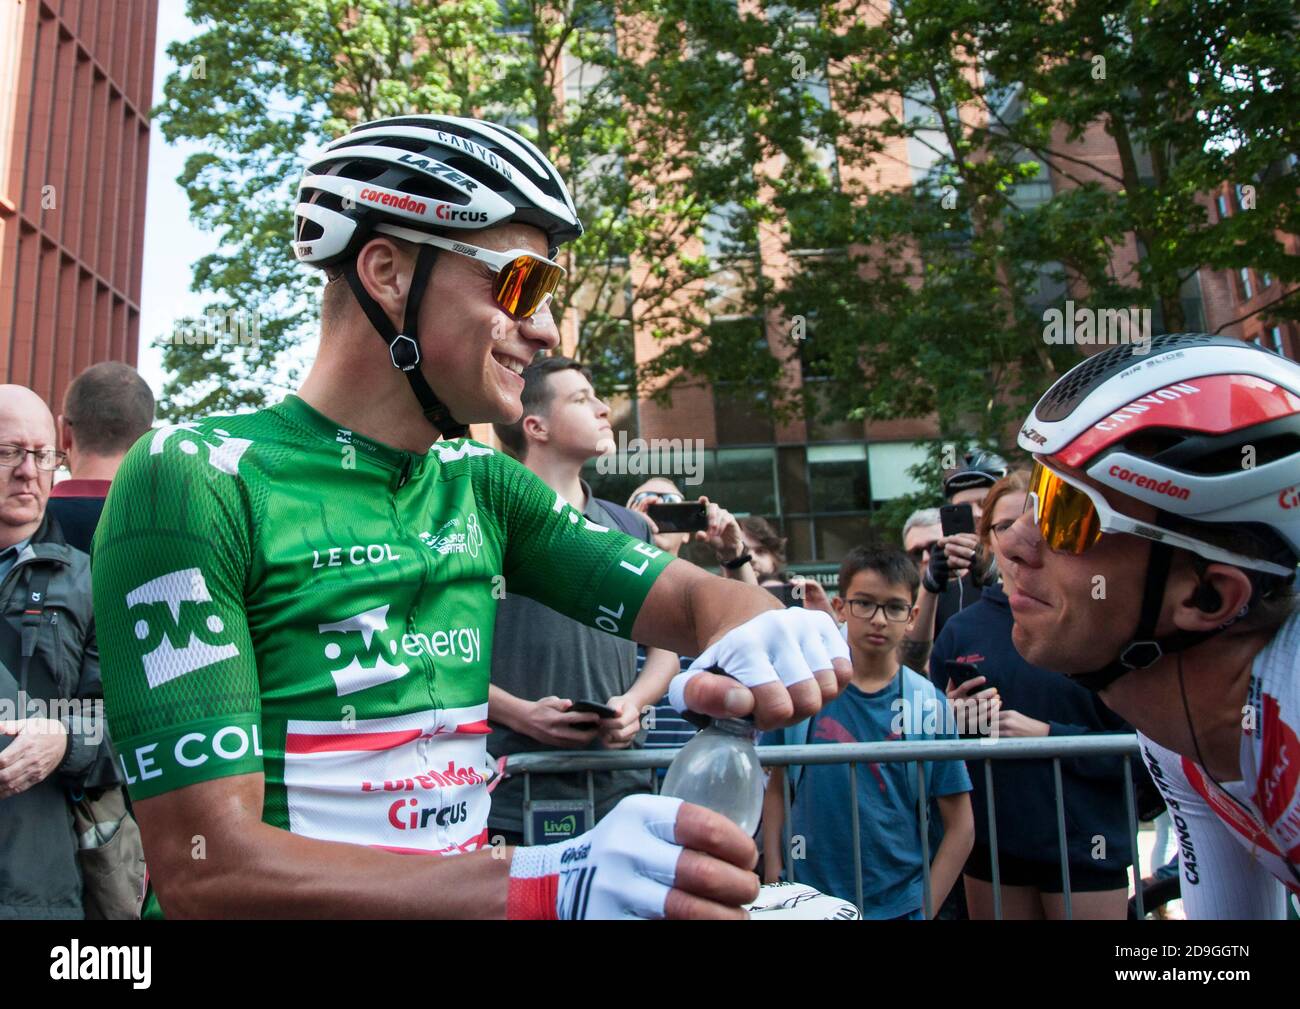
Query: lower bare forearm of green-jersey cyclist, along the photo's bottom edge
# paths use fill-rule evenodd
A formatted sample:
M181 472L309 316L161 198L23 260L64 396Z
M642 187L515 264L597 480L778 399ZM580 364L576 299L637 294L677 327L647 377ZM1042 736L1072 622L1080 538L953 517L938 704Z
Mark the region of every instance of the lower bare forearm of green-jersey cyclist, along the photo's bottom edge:
M512 856L395 854L259 822L153 879L169 918L504 918Z

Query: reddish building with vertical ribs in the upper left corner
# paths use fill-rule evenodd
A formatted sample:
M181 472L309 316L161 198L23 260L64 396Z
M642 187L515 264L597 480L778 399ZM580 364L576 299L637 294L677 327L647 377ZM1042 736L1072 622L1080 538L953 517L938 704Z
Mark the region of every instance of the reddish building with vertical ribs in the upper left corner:
M56 413L136 360L157 1L0 9L0 368Z

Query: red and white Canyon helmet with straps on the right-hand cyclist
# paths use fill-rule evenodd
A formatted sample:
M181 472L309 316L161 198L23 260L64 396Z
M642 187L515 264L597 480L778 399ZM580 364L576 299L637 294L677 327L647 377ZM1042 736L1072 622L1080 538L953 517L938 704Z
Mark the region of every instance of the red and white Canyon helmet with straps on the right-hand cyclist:
M1130 532L1154 542L1135 638L1112 666L1092 675L1093 683L1078 677L1086 685L1100 689L1127 670L1209 636L1154 640L1173 547L1238 564L1251 573L1256 592L1295 576L1300 364L1292 360L1204 333L1156 337L1141 356L1131 346L1112 347L1052 385L1024 421L1019 446L1057 477L1070 467L1158 510L1153 523L1109 508L1101 523L1089 516L1093 537ZM1096 491L1089 497L1104 504ZM1112 529L1105 529L1108 518ZM1251 533L1256 546L1245 554L1225 551L1201 542L1197 525L1231 525Z

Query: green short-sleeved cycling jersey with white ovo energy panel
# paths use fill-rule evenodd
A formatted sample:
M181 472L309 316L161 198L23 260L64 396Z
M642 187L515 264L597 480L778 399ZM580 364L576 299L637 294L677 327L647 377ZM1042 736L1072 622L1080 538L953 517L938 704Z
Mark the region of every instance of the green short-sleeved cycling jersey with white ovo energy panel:
M403 452L296 397L152 432L94 545L131 796L260 772L272 826L473 850L498 601L628 637L670 560L469 439Z

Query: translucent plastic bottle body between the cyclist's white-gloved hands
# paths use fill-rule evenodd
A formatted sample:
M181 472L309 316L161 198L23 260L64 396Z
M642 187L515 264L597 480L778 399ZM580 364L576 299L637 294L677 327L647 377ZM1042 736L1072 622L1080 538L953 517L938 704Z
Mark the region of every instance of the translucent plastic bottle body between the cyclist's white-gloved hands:
M754 723L720 718L697 732L668 765L660 791L722 813L753 835L763 815L763 768L754 749Z

